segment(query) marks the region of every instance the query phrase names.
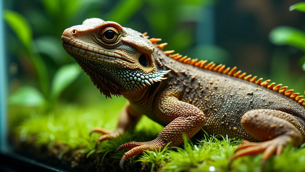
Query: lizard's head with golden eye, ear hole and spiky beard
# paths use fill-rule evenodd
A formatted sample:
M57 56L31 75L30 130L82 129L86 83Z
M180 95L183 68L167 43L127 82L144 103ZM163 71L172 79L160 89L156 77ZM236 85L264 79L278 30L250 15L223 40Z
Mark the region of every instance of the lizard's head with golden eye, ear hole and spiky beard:
M61 39L66 52L106 97L140 90L166 79L169 72L156 69L149 39L113 21L87 19L67 28Z

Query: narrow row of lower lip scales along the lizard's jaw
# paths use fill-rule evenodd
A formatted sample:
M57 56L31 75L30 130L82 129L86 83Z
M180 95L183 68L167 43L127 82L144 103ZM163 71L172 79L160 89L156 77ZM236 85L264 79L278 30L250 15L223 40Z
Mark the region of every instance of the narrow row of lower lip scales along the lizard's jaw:
M116 53L114 53L116 56L109 56L106 54L100 54L100 53L96 53L96 52L93 52L90 50L82 49L82 48L76 47L76 46L71 45L66 42L63 42L63 47L65 47L66 49L69 49L71 51L77 52L78 54L82 54L84 57L86 57L88 59L93 59L93 60L97 60L100 62L112 63L112 64L120 65L120 66L124 66L126 63L132 63L132 62L128 61L127 59L125 59L124 56L121 56ZM118 57L118 56L120 56L120 57ZM120 62L122 64L120 64Z

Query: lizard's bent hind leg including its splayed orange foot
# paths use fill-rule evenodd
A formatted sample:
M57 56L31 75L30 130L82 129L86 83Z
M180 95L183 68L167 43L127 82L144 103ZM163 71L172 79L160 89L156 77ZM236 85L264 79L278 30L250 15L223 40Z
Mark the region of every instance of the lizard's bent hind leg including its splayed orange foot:
M303 130L296 119L278 110L250 110L242 116L242 126L251 136L263 142L242 141L230 162L241 156L263 152L264 166L271 155L280 155L287 144L299 146L303 141Z

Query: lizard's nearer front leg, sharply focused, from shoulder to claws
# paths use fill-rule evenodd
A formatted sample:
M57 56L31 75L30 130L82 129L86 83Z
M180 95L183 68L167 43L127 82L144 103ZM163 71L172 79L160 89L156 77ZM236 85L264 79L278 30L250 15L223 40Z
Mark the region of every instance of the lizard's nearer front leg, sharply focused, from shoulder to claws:
M155 140L148 142L131 141L122 144L117 152L121 149L131 148L124 153L120 161L122 169L126 159L140 154L144 150L163 149L167 143L170 143L170 146L178 146L184 141L183 133L191 138L203 127L206 121L203 112L194 105L180 101L178 97L179 94L175 91L164 91L157 96L154 102L155 113L160 120L169 124Z

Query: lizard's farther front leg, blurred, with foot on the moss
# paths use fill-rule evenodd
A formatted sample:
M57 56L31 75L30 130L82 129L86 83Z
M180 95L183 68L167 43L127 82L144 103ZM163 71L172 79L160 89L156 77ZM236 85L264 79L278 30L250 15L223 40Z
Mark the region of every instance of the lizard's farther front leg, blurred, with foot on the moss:
M94 128L91 130L90 135L92 133L102 133L103 135L98 138L96 141L96 147L99 142L103 140L110 140L112 138L117 138L120 134L126 132L129 129L134 129L135 125L138 123L142 114L137 113L130 106L130 103L127 102L125 107L122 109L120 113L120 117L117 123L117 128L114 131L109 131L102 128Z

